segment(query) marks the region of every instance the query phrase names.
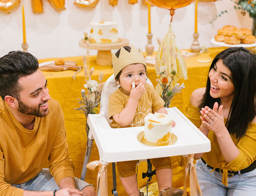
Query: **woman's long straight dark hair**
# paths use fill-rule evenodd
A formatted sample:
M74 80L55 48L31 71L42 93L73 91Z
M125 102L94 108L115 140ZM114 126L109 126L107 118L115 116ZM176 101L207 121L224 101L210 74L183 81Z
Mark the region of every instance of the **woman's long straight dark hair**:
M247 126L256 115L256 54L250 53L248 49L243 47L225 49L213 59L210 70L219 59L222 59L223 65L230 70L231 82L234 85L234 97L226 127L230 134L236 134L236 138L241 138L245 135ZM213 108L215 102L220 104L220 98L210 96L210 88L211 83L208 77L206 92L199 108L206 105Z

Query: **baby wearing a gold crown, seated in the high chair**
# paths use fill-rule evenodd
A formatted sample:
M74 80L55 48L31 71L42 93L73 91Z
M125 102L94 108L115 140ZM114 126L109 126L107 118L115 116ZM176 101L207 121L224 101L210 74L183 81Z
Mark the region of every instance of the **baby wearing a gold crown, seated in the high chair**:
M147 85L147 67L144 56L134 45L121 47L112 56L115 82L121 85L109 96L108 114L111 127L137 127L144 125L149 113L167 114L164 101L154 87ZM173 126L175 123L173 124ZM172 187L172 169L170 157L150 159L156 168L159 196L182 195L181 189ZM122 185L128 195L143 195L139 192L135 167L137 160L117 162Z

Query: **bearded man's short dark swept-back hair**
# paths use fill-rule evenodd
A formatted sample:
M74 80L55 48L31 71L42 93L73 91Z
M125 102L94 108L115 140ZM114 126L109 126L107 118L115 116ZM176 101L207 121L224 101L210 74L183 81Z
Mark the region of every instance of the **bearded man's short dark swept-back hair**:
M38 60L30 53L11 51L0 58L0 96L19 98L22 87L19 79L33 74L38 69Z

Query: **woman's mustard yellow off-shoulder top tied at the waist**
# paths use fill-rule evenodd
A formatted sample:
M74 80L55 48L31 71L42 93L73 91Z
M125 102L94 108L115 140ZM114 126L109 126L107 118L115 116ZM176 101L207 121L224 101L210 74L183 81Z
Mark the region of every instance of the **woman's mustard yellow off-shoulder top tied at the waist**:
M187 118L199 128L202 124L200 120L200 111L194 105L189 104L186 109L185 115ZM226 119L224 119L226 123ZM211 141L211 151L204 153L202 158L206 161L208 165L214 168L223 169L223 179L222 183L227 186L227 171L238 171L249 167L256 160L256 124L249 123L245 136L236 139L234 134L230 135L234 144L239 149L239 155L230 163L226 163L221 154L219 144L216 135L210 130L208 134L208 139Z

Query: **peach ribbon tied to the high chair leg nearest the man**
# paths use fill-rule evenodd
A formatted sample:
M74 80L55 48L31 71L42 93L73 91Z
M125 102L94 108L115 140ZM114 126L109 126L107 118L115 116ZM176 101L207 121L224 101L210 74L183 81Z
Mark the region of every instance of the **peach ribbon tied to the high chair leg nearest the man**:
M100 166L98 168L99 172L97 175L97 189L96 189L96 195L98 195L98 191L100 189L100 196L106 196L108 195L108 165L104 165L100 161L93 161L90 163L87 163L86 167L91 170L95 170L97 166ZM100 184L100 187L99 187Z

